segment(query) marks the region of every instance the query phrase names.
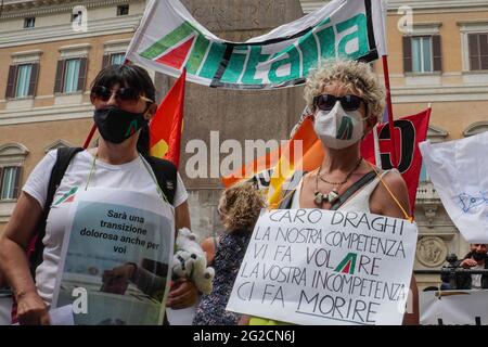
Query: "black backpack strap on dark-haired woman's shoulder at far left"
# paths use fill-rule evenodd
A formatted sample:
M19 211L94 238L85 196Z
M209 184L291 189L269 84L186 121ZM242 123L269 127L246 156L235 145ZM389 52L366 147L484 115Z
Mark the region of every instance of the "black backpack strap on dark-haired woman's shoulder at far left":
M52 201L54 200L54 195L56 193L57 187L60 187L61 180L63 179L64 174L69 166L73 157L78 153L84 151L82 147L60 147L57 149L56 162L51 171L51 176L49 179L48 185L48 195L46 197L46 204L43 208L43 214L41 219L39 220L36 231L37 233L34 235L30 241L30 271L33 278L35 279L36 268L42 262L42 254L44 245L42 243L42 239L46 235L46 222L48 219L49 211L51 210Z

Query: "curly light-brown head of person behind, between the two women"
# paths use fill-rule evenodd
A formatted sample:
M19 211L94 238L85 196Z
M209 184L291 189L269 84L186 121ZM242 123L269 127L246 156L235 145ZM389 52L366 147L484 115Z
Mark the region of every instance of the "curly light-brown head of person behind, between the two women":
M251 231L266 207L265 196L252 183L240 183L226 189L219 201L219 215L228 232Z

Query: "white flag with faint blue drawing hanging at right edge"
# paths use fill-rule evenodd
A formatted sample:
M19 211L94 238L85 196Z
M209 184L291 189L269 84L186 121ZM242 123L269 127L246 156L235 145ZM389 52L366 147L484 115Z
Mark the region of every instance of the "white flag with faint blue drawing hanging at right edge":
M428 176L463 237L488 243L488 131L419 146Z

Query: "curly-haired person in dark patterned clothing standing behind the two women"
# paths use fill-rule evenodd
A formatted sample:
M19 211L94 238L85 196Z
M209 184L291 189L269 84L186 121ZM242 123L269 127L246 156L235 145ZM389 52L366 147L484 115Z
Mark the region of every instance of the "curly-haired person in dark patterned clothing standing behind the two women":
M219 236L215 245L214 288L209 295L202 297L193 319L194 325L235 325L240 316L226 311L232 286L241 262L246 253L254 226L266 202L262 193L252 183L241 183L228 188L220 196L218 213L226 232ZM202 247L211 254L216 239L203 242Z

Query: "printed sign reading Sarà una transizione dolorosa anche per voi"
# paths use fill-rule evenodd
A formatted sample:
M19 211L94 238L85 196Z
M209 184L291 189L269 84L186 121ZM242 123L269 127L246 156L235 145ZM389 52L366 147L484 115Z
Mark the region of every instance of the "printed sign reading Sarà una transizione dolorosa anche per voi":
M75 324L160 324L174 231L171 207L151 195L78 191L53 307L73 305Z

